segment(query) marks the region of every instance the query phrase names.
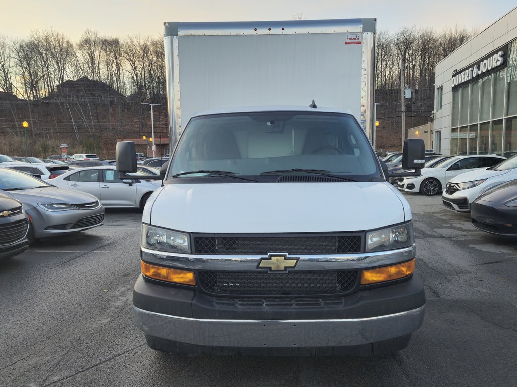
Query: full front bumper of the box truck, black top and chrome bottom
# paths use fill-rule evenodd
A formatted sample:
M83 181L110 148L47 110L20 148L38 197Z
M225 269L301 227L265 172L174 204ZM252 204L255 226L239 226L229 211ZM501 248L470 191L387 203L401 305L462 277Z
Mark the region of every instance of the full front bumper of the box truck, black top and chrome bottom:
M282 297L286 296L277 299ZM355 346L416 331L422 325L425 304L423 285L415 276L360 290L334 305L265 306L221 303L221 299L229 298L157 284L141 275L133 291L134 320L148 335L194 345Z

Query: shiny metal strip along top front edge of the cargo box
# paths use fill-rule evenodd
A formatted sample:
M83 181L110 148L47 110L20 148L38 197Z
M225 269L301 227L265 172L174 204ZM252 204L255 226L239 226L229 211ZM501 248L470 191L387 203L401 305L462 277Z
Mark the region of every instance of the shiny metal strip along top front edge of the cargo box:
M173 24L167 22L166 24ZM255 30L256 29L256 30ZM361 33L362 19L180 22L178 36Z

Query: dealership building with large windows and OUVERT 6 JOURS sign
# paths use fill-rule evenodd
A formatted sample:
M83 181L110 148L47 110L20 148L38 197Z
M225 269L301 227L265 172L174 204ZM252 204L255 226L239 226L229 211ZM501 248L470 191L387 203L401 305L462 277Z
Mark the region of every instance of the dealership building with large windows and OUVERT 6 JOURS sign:
M434 150L517 154L517 7L436 65Z

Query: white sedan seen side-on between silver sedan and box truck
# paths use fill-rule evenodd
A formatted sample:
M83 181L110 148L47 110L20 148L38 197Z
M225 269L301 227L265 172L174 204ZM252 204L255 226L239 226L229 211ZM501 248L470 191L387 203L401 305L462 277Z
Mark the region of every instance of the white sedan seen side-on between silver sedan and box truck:
M160 186L159 181L121 179L114 166L78 168L49 182L56 187L95 195L104 207L142 209L151 193Z

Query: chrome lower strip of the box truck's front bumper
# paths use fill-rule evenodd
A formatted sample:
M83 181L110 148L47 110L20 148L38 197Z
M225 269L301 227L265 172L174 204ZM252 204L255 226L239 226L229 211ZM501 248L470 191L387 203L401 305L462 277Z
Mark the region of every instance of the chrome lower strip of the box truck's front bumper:
M416 331L424 306L412 311L340 320L203 320L148 312L133 306L146 334L218 347L330 347L374 343Z

